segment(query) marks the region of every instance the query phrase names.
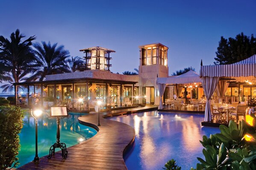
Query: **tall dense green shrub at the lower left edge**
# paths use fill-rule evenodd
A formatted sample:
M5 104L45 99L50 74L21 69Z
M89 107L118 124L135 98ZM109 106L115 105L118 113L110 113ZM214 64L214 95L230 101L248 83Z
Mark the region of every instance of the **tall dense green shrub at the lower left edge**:
M0 169L18 165L20 149L19 133L23 127L24 114L21 108L0 106Z

